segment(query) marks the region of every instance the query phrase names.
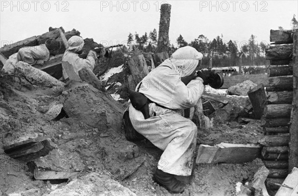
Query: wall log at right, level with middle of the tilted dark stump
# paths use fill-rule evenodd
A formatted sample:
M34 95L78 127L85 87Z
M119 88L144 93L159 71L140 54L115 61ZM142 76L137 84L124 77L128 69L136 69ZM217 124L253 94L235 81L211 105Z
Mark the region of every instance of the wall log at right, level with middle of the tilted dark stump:
M292 104L293 91L266 92L268 104Z

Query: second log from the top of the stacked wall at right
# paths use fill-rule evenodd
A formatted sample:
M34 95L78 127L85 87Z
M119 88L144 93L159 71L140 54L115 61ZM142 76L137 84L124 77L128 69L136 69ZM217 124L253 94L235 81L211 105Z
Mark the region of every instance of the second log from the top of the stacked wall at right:
M265 51L267 60L286 60L292 59L293 44L270 46Z

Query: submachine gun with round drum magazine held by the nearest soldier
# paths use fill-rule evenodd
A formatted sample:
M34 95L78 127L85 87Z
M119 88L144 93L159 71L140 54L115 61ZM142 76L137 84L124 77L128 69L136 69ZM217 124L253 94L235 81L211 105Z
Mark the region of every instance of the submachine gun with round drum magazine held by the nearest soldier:
M212 88L219 89L224 85L224 76L222 73L235 72L235 68L204 68L197 71L197 75L202 77L204 84L209 84Z

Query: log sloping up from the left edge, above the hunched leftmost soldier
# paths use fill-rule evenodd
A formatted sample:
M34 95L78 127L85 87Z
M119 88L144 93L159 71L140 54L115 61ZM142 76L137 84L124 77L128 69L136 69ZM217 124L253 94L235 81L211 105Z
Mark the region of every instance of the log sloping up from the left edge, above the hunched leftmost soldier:
M0 48L0 53L2 53L8 59L10 55L17 53L18 50L24 46L37 46L37 45L38 45L38 42L37 42L36 36L32 36L25 40L3 46L2 48Z

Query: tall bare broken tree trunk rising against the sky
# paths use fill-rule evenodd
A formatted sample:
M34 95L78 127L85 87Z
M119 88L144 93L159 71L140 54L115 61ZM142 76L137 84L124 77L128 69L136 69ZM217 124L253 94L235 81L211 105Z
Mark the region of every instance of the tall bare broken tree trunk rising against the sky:
M157 53L168 51L171 5L164 3L160 6L160 21L158 30Z

